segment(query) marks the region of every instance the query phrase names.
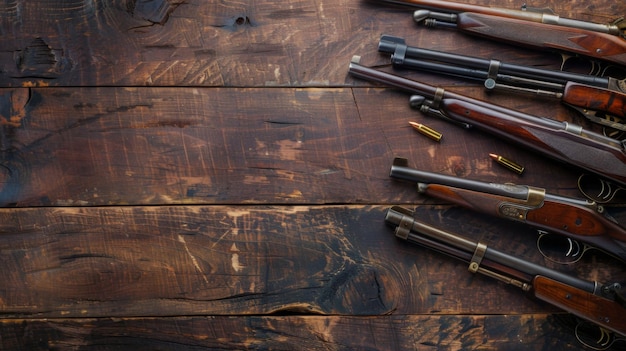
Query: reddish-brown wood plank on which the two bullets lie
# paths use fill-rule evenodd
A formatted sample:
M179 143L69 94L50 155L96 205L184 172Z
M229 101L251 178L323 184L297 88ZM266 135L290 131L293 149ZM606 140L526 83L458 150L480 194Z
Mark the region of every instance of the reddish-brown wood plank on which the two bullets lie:
M21 88L0 99L8 107L0 133L5 206L423 202L389 179L395 156L426 171L580 196L578 171L424 117L389 89ZM500 102L576 118L552 101ZM411 120L444 138L416 133ZM493 152L525 174L494 163Z

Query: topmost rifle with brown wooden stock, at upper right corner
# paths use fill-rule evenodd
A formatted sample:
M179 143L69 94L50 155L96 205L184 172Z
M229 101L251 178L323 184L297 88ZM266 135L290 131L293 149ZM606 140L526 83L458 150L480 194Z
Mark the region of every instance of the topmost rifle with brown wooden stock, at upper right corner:
M626 66L623 18L599 24L560 18L549 9L511 10L441 0L378 2L420 8L414 12L413 19L427 27L452 27L493 40L557 51L563 55L563 63L568 54L574 54Z

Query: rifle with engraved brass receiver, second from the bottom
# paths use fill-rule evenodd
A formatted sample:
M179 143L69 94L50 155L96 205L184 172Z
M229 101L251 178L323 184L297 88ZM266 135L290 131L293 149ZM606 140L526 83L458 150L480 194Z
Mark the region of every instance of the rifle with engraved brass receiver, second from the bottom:
M558 233L589 244L626 262L626 229L606 215L595 202L546 193L528 185L494 184L409 168L395 158L389 176L417 183L421 194L465 208ZM537 241L541 253L541 235ZM565 257L578 260L585 252L576 242L565 243Z

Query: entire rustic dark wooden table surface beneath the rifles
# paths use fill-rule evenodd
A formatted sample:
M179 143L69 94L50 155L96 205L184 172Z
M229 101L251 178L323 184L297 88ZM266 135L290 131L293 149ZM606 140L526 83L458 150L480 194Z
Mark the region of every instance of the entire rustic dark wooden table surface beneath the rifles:
M595 22L626 14L621 0L530 5ZM416 208L526 260L626 281L604 254L551 263L532 228L389 178L401 156L580 197L577 170L421 115L406 94L347 74L353 55L391 69L377 52L382 34L559 67L553 53L426 29L411 13L361 0L2 1L0 349L580 349L556 308L385 225L390 206ZM398 74L597 129L556 100Z

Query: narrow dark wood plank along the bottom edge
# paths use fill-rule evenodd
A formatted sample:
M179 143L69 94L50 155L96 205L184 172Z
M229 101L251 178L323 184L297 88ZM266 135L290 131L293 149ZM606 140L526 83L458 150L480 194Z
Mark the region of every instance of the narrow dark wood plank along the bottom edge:
M0 347L31 351L580 350L563 318L536 314L10 320L0 325Z

